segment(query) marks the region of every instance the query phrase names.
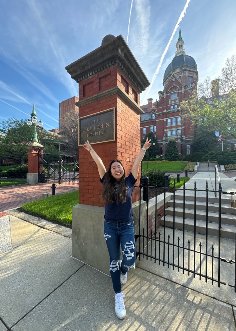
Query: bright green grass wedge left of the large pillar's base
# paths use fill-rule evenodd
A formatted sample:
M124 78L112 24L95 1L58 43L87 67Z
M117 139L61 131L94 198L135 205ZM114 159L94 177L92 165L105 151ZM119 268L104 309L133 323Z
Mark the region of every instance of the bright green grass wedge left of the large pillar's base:
M72 207L79 203L79 191L51 196L50 198L28 202L21 206L21 211L39 216L48 221L70 226Z

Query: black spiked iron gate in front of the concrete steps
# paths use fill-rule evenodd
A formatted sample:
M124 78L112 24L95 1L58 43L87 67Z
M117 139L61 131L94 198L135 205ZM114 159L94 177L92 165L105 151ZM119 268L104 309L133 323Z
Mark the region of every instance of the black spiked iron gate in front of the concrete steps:
M141 188L149 190L150 186L143 186L140 185L140 205L141 205ZM157 192L156 187L156 192ZM172 267L173 270L181 271L183 274L187 273L188 276L193 274L193 277L199 277L199 279L205 279L206 282L211 282L213 284L216 282L218 287L220 284L226 285L226 282L221 279L221 262L229 263L233 269L230 270L232 277L231 283L228 283L228 286L234 287L234 292L236 292L236 213L235 210L233 211L231 218L231 226L232 226L232 234L231 234L231 241L232 241L232 252L226 253L231 256L221 256L221 241L222 241L222 227L221 221L223 219L224 210L222 210L223 205L221 205L221 201L223 200L224 196L229 197L228 195L234 195L235 192L222 192L222 188L219 182L219 189L216 190L209 190L208 185L206 182L206 189L205 190L197 190L196 183L194 189L186 189L185 184L181 189L175 189L175 182L173 188L173 199L171 200L172 203L172 215L167 215L168 208L166 202L166 194L167 189L163 188L164 190L164 205L163 205L163 213L164 215L158 214L157 209L157 196L155 198L155 221L151 224L148 221L148 208L149 208L149 200L146 200L146 228L141 227L141 219L140 219L140 207L139 207L139 233L137 234L138 240L138 247L137 247L137 258L146 259L150 261L154 261L154 263L158 262L159 265L166 266L168 268ZM178 191L177 191L178 190ZM204 211L199 211L199 199L197 193L205 192L205 201ZM192 192L192 193L190 193ZM209 193L214 193L215 203L209 202ZM217 194L218 193L218 194ZM179 224L177 225L177 207L176 197L177 194L181 194L182 199L182 207L181 207L181 219L182 219L182 228L179 228ZM218 197L216 198L216 194ZM147 195L148 196L148 195ZM189 206L186 204L189 202L189 197L191 196L191 204L192 204L192 228L191 230L188 229L187 231L187 219L189 213ZM143 199L144 200L144 199ZM230 203L230 199L228 199ZM212 214L210 212L210 207L212 205L216 205L216 229L215 232L211 232L213 228L212 224ZM232 206L232 203L231 203ZM213 206L214 207L214 206ZM234 205L232 206L234 207ZM231 210L232 211L232 210ZM202 231L203 234L199 232L199 214L202 214L202 219L205 223L205 231ZM163 217L162 217L163 216ZM160 226L160 217L162 217L162 226ZM169 222L170 218L172 218L172 223ZM160 231L161 229L161 231ZM181 234L179 234L179 230L181 230ZM191 240L189 239L189 234L191 232ZM178 232L178 235L176 235ZM213 233L213 234L212 234ZM199 235L200 234L200 235ZM201 237L201 241L199 240ZM230 242L231 245L231 242ZM223 265L225 266L225 264Z

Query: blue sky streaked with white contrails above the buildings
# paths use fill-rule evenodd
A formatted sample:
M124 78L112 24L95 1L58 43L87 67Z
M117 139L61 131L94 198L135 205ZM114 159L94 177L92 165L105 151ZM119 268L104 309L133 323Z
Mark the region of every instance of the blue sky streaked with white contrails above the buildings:
M155 101L176 51L181 18L199 82L214 79L236 54L235 16L235 0L1 0L0 121L28 118L35 102L44 128L57 128L59 102L78 95L65 66L99 47L106 34L128 40L152 82L141 104Z

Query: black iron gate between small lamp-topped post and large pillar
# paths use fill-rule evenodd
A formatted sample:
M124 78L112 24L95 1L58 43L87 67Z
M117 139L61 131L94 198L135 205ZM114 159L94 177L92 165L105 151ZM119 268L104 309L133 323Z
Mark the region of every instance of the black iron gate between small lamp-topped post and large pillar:
M79 163L58 161L46 162L38 152L38 183L54 182L79 185Z

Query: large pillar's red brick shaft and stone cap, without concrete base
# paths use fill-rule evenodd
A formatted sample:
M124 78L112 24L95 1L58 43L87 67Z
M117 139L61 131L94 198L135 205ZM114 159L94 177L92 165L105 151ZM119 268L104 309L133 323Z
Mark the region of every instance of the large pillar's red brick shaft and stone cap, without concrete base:
M128 175L140 151L140 93L150 84L128 45L121 35L106 36L101 47L65 69L79 83L79 118L115 108L115 140L93 147L106 168L118 158ZM79 203L104 206L97 166L84 143L79 141ZM140 172L137 185L139 180ZM138 191L133 202L139 199Z

